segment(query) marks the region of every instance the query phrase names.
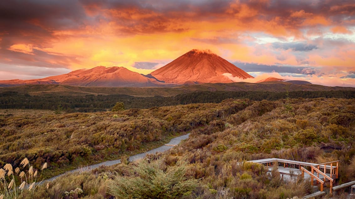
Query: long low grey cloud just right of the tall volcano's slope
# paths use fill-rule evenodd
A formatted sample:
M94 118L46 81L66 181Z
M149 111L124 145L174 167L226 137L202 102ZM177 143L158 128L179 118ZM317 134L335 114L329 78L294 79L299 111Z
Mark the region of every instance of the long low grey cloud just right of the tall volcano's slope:
M258 65L258 64L248 64L248 63L233 63L238 68L244 70L245 72L278 72L278 73L289 73L289 74L302 74L302 75L313 75L316 74L316 70L312 67L300 67L300 66L276 66L276 65Z

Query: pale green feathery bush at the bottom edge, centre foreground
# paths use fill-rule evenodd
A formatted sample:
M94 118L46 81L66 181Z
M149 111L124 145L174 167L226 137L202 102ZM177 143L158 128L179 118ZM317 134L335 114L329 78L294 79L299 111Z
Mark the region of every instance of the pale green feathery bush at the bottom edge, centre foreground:
M117 175L109 184L109 193L116 198L187 198L197 180L185 175L186 164L178 162L166 167L160 160L141 160L129 174Z

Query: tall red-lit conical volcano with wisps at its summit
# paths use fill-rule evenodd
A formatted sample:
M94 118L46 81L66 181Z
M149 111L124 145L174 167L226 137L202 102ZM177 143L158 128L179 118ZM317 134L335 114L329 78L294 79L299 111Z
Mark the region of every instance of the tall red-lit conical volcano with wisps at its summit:
M253 78L244 70L212 53L210 50L191 51L151 73L152 76L165 83L231 83L229 73L241 79Z

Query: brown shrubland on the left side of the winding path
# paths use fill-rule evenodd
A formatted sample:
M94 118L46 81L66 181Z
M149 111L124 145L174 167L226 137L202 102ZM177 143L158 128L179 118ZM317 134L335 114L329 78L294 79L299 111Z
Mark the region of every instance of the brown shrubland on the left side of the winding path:
M163 145L171 136L200 128L247 105L229 102L63 114L7 110L0 116L0 166L18 166L26 157L35 168L49 163L44 175L50 177L78 165Z

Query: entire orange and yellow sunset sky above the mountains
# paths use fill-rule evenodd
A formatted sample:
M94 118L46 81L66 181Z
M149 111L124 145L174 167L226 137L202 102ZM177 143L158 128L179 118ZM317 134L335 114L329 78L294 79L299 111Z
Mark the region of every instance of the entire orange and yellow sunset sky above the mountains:
M355 87L355 1L0 1L0 80L148 74L194 48L257 78Z

